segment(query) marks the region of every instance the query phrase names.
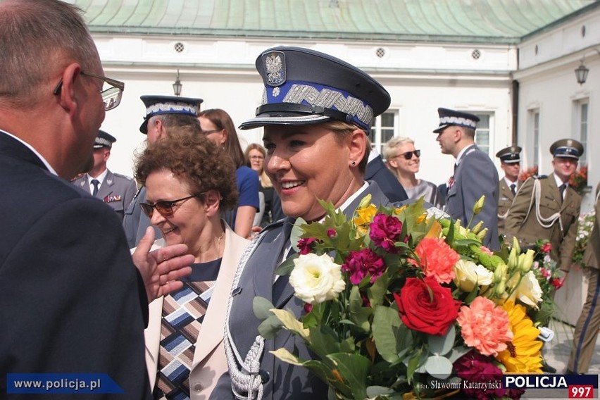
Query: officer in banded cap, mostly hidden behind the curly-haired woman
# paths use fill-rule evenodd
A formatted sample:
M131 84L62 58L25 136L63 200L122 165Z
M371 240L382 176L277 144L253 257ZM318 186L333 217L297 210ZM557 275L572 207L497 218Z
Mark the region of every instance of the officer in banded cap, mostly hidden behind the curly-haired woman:
M202 99L179 96L140 96L146 106L144 122L139 127L139 132L146 135L146 146L168 137L169 130L174 127L185 127L193 132L200 132L200 123L196 118ZM140 187L133 201L125 210L123 229L130 247L135 247L144 236L146 228L150 226L150 219L142 213L140 203L146 201L146 188ZM161 232L155 230L158 237Z

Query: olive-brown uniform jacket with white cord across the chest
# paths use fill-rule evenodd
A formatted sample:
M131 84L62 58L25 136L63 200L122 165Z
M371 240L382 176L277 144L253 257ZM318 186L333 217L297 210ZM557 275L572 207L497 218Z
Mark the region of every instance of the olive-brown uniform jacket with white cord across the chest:
M539 181L539 203L535 199L534 183ZM529 178L520 187L513 205L508 210L505 229L506 239L512 242L517 237L522 246L535 244L538 239L549 239L552 244L551 256L559 263L561 270L569 270L573 262L575 238L577 236L577 220L581 208L581 196L572 187L568 187L565 199L561 200L561 192L556 186L554 176ZM554 213L561 214L550 227L540 225L537 213L542 218L549 218Z

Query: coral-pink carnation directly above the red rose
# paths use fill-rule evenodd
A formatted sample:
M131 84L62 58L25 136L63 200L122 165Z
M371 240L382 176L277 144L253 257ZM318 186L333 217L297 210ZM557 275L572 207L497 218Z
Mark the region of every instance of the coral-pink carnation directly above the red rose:
M461 256L458 256L458 253L444 242L444 239L425 237L417 245L415 254L419 257L425 276L435 277L439 283L450 283L454 280L454 264L461 259ZM413 259L409 261L419 265Z

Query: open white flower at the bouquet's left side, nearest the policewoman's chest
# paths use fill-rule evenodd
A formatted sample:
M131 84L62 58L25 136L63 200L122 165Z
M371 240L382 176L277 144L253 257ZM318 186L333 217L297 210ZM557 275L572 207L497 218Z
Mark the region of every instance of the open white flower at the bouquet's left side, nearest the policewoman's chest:
M294 264L289 284L294 287L296 297L306 303L319 304L335 299L346 287L342 265L334 263L327 254L303 254L294 260Z

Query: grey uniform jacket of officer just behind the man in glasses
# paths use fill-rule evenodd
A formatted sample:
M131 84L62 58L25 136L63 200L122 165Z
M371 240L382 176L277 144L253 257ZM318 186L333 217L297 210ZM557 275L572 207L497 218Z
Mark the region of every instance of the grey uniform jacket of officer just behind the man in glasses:
M89 182L89 176L87 174L71 181L73 185L84 189L86 192L89 192ZM101 182L96 197L104 201L108 206L111 206L111 208L116 211L120 220L123 221L125 209L133 200L133 196L135 196L136 192L137 186L135 185L135 180L133 180L133 178L115 174L112 173L111 170L107 170L106 177L104 177L104 181Z

